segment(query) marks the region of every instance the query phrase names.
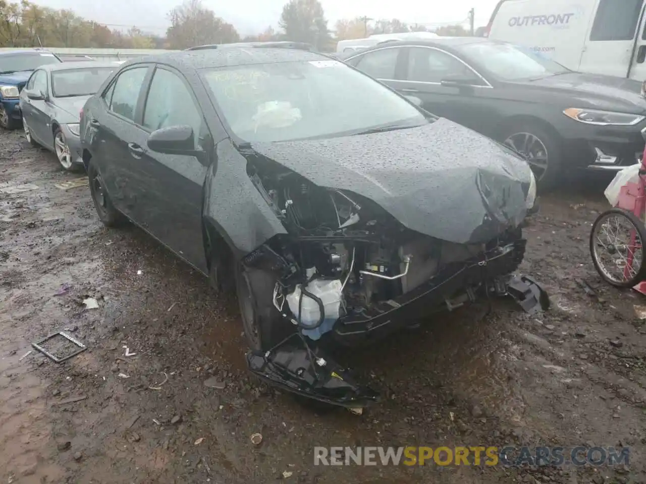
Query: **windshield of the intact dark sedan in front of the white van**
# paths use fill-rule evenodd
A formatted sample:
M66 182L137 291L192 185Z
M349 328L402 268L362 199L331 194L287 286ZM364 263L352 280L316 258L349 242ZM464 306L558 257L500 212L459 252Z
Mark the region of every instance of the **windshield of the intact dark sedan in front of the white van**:
M459 50L475 64L484 66L505 81L541 79L570 72L530 48L511 44L479 42L459 46Z

